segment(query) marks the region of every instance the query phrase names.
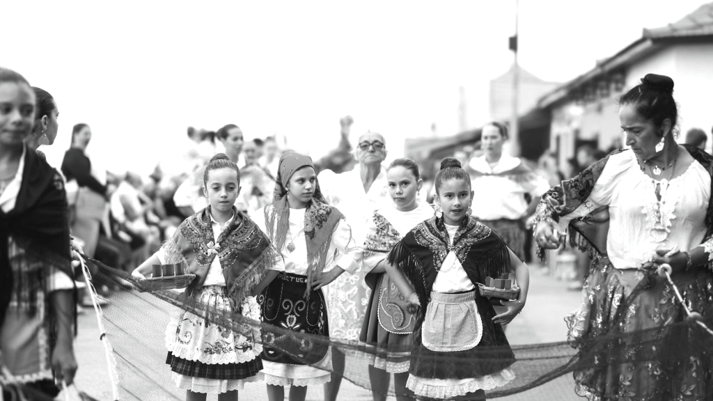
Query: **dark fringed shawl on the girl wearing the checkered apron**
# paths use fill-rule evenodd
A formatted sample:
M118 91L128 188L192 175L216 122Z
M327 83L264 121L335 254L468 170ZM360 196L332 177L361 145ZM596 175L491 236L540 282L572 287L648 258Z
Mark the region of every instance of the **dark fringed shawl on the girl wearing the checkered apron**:
M419 223L394 246L387 260L411 280L421 305L426 305L438 269L451 250L474 285L483 283L487 276L498 277L510 268L508 246L487 225L471 216L463 219L453 245L443 218L434 216Z

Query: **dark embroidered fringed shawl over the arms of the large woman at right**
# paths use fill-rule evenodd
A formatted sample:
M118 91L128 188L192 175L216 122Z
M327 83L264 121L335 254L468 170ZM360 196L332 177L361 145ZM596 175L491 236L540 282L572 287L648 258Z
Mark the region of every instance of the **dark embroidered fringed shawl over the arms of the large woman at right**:
M711 193L713 193L713 156L710 156L708 153L694 146L683 146L688 153L693 156L694 161L700 163L711 175ZM583 205L592 193L595 183L597 183L602 171L604 171L610 156L624 151L623 149L613 151L592 166L585 168L578 176L568 181L563 181L560 186L551 188L550 191L545 193L535 212L535 230L536 224L541 221L551 219L555 221L555 223L558 223L560 218L573 213L577 208ZM604 225L602 229L604 229L605 232L608 231L609 213L607 206L597 208L597 210L593 210L593 212L588 215L570 221L568 225L570 245L583 250L595 260L604 257L607 253L606 240L603 238L597 242L596 236L594 235L597 230L593 229L599 225ZM711 196L707 205L705 225L707 231L704 241L707 241L713 236L713 196ZM538 247L538 255L540 259L543 259L545 250Z

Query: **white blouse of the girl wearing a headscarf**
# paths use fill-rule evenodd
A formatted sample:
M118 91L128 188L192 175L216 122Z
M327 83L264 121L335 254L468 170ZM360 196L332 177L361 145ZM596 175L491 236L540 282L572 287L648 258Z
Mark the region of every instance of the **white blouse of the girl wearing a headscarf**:
M269 207L269 206L265 206ZM282 258L284 258L284 271L297 275L307 275L307 240L304 238L304 212L307 210L289 208L289 231L284 240ZM260 230L267 235L267 225L265 223L265 208L255 210L250 215ZM272 238L270 239L272 240ZM294 244L292 252L287 246ZM334 227L332 232L332 243L329 244L327 260L324 263L324 271L332 270L334 266L339 266L347 273L354 274L359 271L359 264L356 260L361 258L361 247L356 246L352 238L352 229L343 220Z

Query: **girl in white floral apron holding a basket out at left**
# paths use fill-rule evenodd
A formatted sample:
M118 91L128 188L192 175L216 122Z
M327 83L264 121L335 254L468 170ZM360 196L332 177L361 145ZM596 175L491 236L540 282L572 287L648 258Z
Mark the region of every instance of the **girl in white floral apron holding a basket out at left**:
M219 153L205 168L203 191L210 205L181 223L173 238L146 260L135 274L149 275L152 265L184 263L196 275L185 290L190 302L208 315L237 313L255 320L243 332L217 325L206 315L182 311L166 333L173 380L187 390L186 400L237 400L245 382L260 379L260 305L255 295L284 270L277 250L262 230L234 206L240 171Z

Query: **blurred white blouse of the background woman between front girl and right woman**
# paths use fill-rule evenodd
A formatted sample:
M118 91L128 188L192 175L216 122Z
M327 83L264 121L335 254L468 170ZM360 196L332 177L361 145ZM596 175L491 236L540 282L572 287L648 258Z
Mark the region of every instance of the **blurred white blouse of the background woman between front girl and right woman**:
M503 155L498 164L491 166L486 156L473 158L469 163L473 170L485 174L471 181L471 188L476 192L473 198L473 217L480 220L498 220L507 218L517 220L525 215L528 203L525 193L530 196L543 196L550 189L545 178L533 173L531 178L515 181L499 174L511 171L522 164L519 158ZM487 194L487 196L484 196Z

